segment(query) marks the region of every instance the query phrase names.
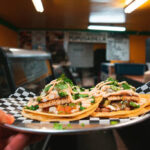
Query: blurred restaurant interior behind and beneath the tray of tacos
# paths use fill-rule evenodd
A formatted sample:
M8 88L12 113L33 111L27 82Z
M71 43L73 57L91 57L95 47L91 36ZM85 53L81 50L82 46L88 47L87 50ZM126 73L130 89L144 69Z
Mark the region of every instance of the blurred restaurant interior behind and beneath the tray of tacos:
M136 88L150 81L149 0L0 3L0 98L18 87L39 94L61 74L84 88L108 77ZM45 142L49 150L148 149L149 125L52 135L26 150L44 149Z

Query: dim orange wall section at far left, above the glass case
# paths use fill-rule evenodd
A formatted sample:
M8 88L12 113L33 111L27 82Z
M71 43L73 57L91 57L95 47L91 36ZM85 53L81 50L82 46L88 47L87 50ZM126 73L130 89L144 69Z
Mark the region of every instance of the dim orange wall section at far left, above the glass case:
M0 25L0 46L18 47L18 33Z

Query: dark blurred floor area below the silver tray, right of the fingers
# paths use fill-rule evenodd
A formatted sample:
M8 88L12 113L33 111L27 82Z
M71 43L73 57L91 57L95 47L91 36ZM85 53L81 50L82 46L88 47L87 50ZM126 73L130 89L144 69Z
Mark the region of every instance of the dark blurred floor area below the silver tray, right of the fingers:
M47 150L148 150L150 120L116 130L75 135L52 135ZM31 150L43 150L43 142Z

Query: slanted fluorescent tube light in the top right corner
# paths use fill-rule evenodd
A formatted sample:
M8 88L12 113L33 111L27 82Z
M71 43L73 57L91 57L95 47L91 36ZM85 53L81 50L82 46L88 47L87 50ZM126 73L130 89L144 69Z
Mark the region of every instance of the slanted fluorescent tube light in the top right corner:
M125 13L131 13L147 1L148 0L134 0L127 7L124 8L124 12Z

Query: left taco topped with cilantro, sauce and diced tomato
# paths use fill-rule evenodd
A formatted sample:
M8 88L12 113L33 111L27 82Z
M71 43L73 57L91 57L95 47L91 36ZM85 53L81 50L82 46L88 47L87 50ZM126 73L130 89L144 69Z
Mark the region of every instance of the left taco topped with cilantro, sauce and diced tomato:
M40 96L30 99L22 114L41 121L74 120L89 116L101 100L101 97L95 98L89 90L75 86L62 75L47 84Z

